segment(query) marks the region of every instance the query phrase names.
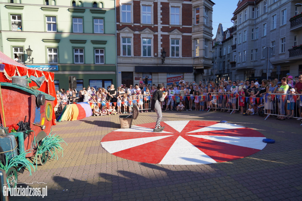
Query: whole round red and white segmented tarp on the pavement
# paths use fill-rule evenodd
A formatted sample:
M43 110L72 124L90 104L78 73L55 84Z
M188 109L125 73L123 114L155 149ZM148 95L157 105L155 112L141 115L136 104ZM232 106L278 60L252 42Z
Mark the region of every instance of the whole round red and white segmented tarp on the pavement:
M213 121L165 121L117 129L101 140L109 153L132 161L190 165L232 161L263 149L265 136L253 129Z

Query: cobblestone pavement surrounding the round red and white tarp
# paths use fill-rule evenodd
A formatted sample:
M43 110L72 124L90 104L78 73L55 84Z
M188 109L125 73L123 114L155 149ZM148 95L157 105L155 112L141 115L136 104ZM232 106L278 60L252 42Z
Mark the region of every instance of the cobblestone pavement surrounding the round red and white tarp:
M53 133L68 143L64 155L48 161L19 183L47 183L47 197L10 200L301 200L302 126L295 119L242 116L226 112L163 112L162 121L227 120L275 139L254 155L204 165L146 164L118 158L100 145L120 128L119 115L60 122ZM155 122L156 113L140 113L132 125ZM45 187L45 184L29 185Z

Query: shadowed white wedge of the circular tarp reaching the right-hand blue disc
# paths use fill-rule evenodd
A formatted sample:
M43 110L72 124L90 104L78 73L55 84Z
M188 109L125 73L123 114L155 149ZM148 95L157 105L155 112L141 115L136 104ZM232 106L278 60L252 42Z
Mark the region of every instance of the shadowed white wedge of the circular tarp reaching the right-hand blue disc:
M263 149L266 143L263 143L262 140L265 137L234 137L234 136L203 136L203 135L188 135L196 138L203 138L208 140L213 140L217 142L224 142L231 145L237 145L242 147L254 148L254 149Z

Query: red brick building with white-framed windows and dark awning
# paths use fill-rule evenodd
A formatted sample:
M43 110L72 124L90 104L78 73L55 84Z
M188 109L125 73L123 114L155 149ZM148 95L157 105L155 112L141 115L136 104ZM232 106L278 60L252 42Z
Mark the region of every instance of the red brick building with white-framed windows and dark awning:
M204 2L207 2L207 8L204 8ZM130 84L138 84L140 78L146 76L149 77L149 83L156 85L177 81L181 76L192 82L197 74L203 73L195 68L203 69L204 59L194 62L194 58L196 60L204 55L195 53L195 40L203 40L204 31L201 27L200 30L195 29L194 34L193 27L205 25L206 21L195 23L195 18L203 17L196 15L197 7L194 4L200 10L210 11L206 27L209 32L207 38L211 40L214 3L209 0L116 1L118 85L123 83L129 87ZM162 64L163 50L166 57ZM204 48L198 48L199 51L204 51ZM211 58L208 59L211 61Z

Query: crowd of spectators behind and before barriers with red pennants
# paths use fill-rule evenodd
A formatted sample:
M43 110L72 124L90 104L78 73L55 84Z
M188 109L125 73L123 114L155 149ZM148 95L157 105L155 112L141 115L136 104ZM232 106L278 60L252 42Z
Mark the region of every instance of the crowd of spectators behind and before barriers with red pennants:
M145 83L141 79L139 84L130 85L129 88L125 84L117 89L114 85L108 89L98 88L98 90L88 86L79 93L75 89L69 89L66 92L61 89L61 92L57 91L57 98L63 102L63 105L67 102L88 102L91 104L93 114L97 116L132 113L133 104L137 104L139 112L149 112L150 97L156 91L156 85L151 86L147 83L147 79L144 81ZM161 103L164 111L207 111L212 109L221 112L231 112L232 110L232 113L254 115L258 114L262 107L265 108L267 114L277 113L279 120L293 116L300 117L298 120L301 120L302 100L300 100L300 96L297 96L297 99L287 96L288 100L282 100L277 96L278 101L276 101L266 94L301 94L302 75L296 76L295 81L291 75L287 75L281 81L278 79L232 81L222 78L218 85L214 81L203 85L201 81L189 83L181 78L179 83L161 84L166 86L164 93L168 94L166 100Z

